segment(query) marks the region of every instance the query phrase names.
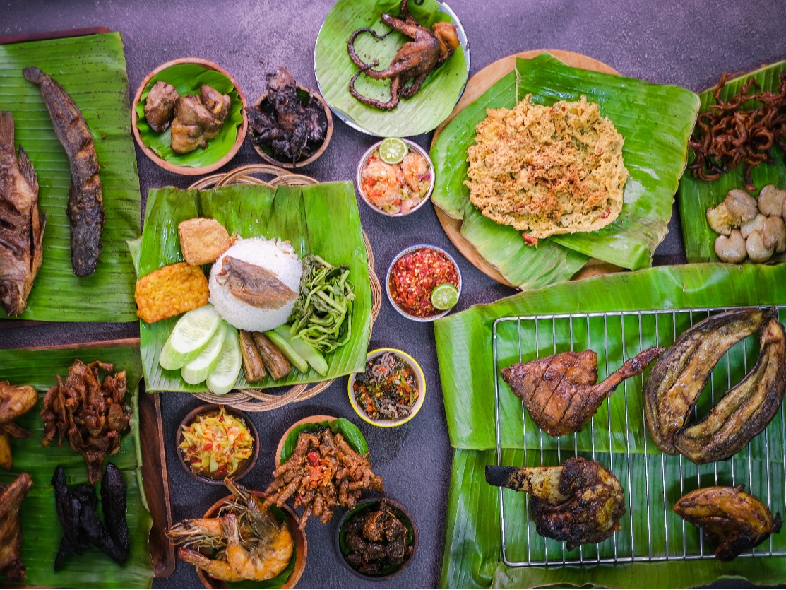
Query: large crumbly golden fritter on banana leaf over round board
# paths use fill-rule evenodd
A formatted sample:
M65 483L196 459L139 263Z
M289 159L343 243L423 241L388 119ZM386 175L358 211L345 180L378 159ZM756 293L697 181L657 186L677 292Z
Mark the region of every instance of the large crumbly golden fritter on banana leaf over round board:
M623 208L624 138L598 105L558 101L488 109L467 150L469 199L529 238L594 231Z

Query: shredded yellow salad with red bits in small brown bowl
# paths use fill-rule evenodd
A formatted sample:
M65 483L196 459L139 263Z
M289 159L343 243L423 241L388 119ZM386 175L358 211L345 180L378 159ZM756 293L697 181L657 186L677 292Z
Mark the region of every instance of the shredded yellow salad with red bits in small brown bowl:
M243 419L226 413L223 406L218 412L197 416L182 428L183 441L179 448L195 474L226 478L254 451L254 437Z

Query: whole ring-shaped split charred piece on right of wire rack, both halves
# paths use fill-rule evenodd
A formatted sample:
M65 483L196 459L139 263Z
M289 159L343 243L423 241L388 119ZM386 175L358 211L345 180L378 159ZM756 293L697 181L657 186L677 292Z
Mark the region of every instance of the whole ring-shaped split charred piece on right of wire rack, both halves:
M724 394L706 418L689 415L712 370L736 342L758 331L755 367ZM786 334L777 309L746 308L714 315L682 334L652 367L645 385L645 421L663 452L693 463L729 459L773 419L786 389Z

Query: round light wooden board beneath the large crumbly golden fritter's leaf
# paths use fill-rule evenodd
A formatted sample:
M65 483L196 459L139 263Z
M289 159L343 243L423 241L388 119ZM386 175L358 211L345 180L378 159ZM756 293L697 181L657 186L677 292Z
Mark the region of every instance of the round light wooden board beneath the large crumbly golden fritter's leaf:
M619 72L617 72L614 68L605 65L603 62L597 61L592 57L582 55L581 53L573 53L572 51L533 50L523 51L522 53L516 53L514 55L509 55L508 57L503 57L501 60L494 61L493 64L487 65L485 68L480 70L480 72L476 73L475 76L472 76L472 78L469 79L464 94L461 96L461 100L458 101L456 108L453 109L453 112L450 113L450 116L448 116L448 118L444 120L443 123L440 124L439 127L437 127L434 131L432 147L434 146L434 142L439 137L439 134L443 131L447 124L449 124L450 121L453 120L455 116L457 116L459 112L463 111L465 107L467 107L473 101L476 101L476 99L479 98L481 94L486 92L486 90L492 87L494 83L498 82L501 78L505 77L507 74L516 69L516 57L532 59L544 51L548 51L554 57L564 61L564 63L570 65L573 68L583 68L586 70L592 70L593 72L603 72L604 74L614 74L615 76L619 76ZM455 219L454 217L449 216L436 204L434 205L434 210L437 214L437 219L439 219L439 223L442 225L443 230L445 230L445 233L447 234L448 239L450 239L450 242L456 246L456 249L461 252L461 254L469 261L470 264L472 264L472 266L476 267L484 275L493 278L497 282L501 282L503 285L507 285L513 289L518 288L515 285L511 285L510 282L508 282L494 266L492 266L485 258L483 258L483 256L480 256L478 251L475 249L475 246L473 246L463 235L461 235L461 219ZM597 260L593 258L589 260L587 264L585 264L584 267L582 267L582 269L578 271L571 280L588 278L594 275L604 275L608 272L618 272L620 270L622 270L622 268L616 266L615 264L609 264L603 260Z

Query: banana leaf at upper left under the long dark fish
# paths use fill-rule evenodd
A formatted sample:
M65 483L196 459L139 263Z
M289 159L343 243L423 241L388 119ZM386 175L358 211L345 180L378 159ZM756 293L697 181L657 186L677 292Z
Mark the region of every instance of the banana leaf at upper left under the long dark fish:
M29 65L42 68L71 94L93 134L106 223L101 259L90 277L79 278L72 270L65 212L71 171L39 87L22 76L22 68ZM13 112L17 145L24 146L35 167L39 208L46 213L43 264L21 317L48 322L134 321L136 277L125 242L139 235L141 216L120 34L0 45L0 79L0 110ZM0 309L0 318L5 317Z

